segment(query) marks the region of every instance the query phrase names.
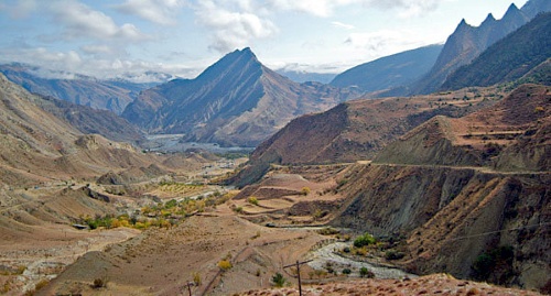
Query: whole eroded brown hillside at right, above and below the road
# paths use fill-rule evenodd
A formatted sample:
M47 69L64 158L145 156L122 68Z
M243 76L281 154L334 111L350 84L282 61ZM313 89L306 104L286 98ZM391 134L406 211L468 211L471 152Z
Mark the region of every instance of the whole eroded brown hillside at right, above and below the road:
M415 273L543 289L550 122L551 89L537 85L464 118L434 118L342 173L348 201L333 223L406 237L400 264Z

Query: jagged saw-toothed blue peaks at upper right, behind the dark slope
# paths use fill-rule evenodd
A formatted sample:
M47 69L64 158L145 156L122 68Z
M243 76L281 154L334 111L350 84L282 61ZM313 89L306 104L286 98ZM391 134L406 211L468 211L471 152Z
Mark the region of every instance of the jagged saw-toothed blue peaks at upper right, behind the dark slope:
M432 69L411 87L411 94L435 91L446 77L463 65L467 65L488 46L526 24L532 15L549 11L548 0L530 0L522 10L511 4L504 18L496 21L491 14L479 26L471 26L462 20L447 39Z

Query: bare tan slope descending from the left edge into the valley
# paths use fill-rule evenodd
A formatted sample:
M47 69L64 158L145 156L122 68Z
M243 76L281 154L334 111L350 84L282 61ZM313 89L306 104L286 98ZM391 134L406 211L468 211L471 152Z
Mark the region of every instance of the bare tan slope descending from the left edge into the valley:
M129 144L84 135L0 75L0 184L11 186L91 177L152 160Z

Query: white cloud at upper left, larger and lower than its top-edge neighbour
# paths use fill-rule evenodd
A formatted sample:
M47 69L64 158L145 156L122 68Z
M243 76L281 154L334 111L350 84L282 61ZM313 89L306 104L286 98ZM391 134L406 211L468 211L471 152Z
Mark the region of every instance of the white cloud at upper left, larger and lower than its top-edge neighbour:
M138 42L147 40L133 24L118 26L115 21L101 11L74 1L52 1L48 10L54 14L54 20L64 25L64 37L112 40Z

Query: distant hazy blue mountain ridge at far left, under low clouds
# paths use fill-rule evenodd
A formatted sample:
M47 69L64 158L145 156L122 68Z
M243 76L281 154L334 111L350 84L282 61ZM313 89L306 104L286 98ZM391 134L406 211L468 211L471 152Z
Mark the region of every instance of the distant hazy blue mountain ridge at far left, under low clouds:
M159 84L131 83L127 79L99 80L82 75L68 75L69 79L43 78L37 75L40 70L42 69L22 64L0 65L0 73L31 92L52 96L95 109L110 110L118 114L138 97L141 90ZM165 79L170 78L163 74L150 73L149 75L156 75L161 81L166 81Z

